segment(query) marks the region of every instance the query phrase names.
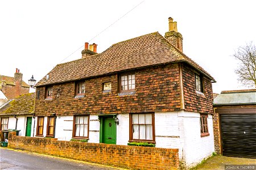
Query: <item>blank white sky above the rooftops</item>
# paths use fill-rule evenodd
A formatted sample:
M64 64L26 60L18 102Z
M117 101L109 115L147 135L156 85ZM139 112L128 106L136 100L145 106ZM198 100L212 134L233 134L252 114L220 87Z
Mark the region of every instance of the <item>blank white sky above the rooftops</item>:
M183 36L183 53L216 79L213 92L247 89L232 56L256 40L256 1L3 1L0 0L0 75L18 68L28 83L57 64L81 58L84 43L101 53L112 44L168 31L168 18ZM31 90L33 91L33 90Z

